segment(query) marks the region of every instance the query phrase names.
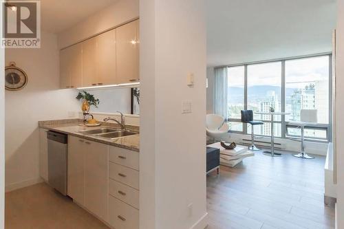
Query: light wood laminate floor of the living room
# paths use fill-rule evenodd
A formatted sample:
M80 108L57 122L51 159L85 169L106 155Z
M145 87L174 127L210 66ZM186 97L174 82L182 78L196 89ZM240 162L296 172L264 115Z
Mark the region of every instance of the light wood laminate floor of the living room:
M207 176L208 229L334 228L323 204L325 157L301 160L256 152Z

